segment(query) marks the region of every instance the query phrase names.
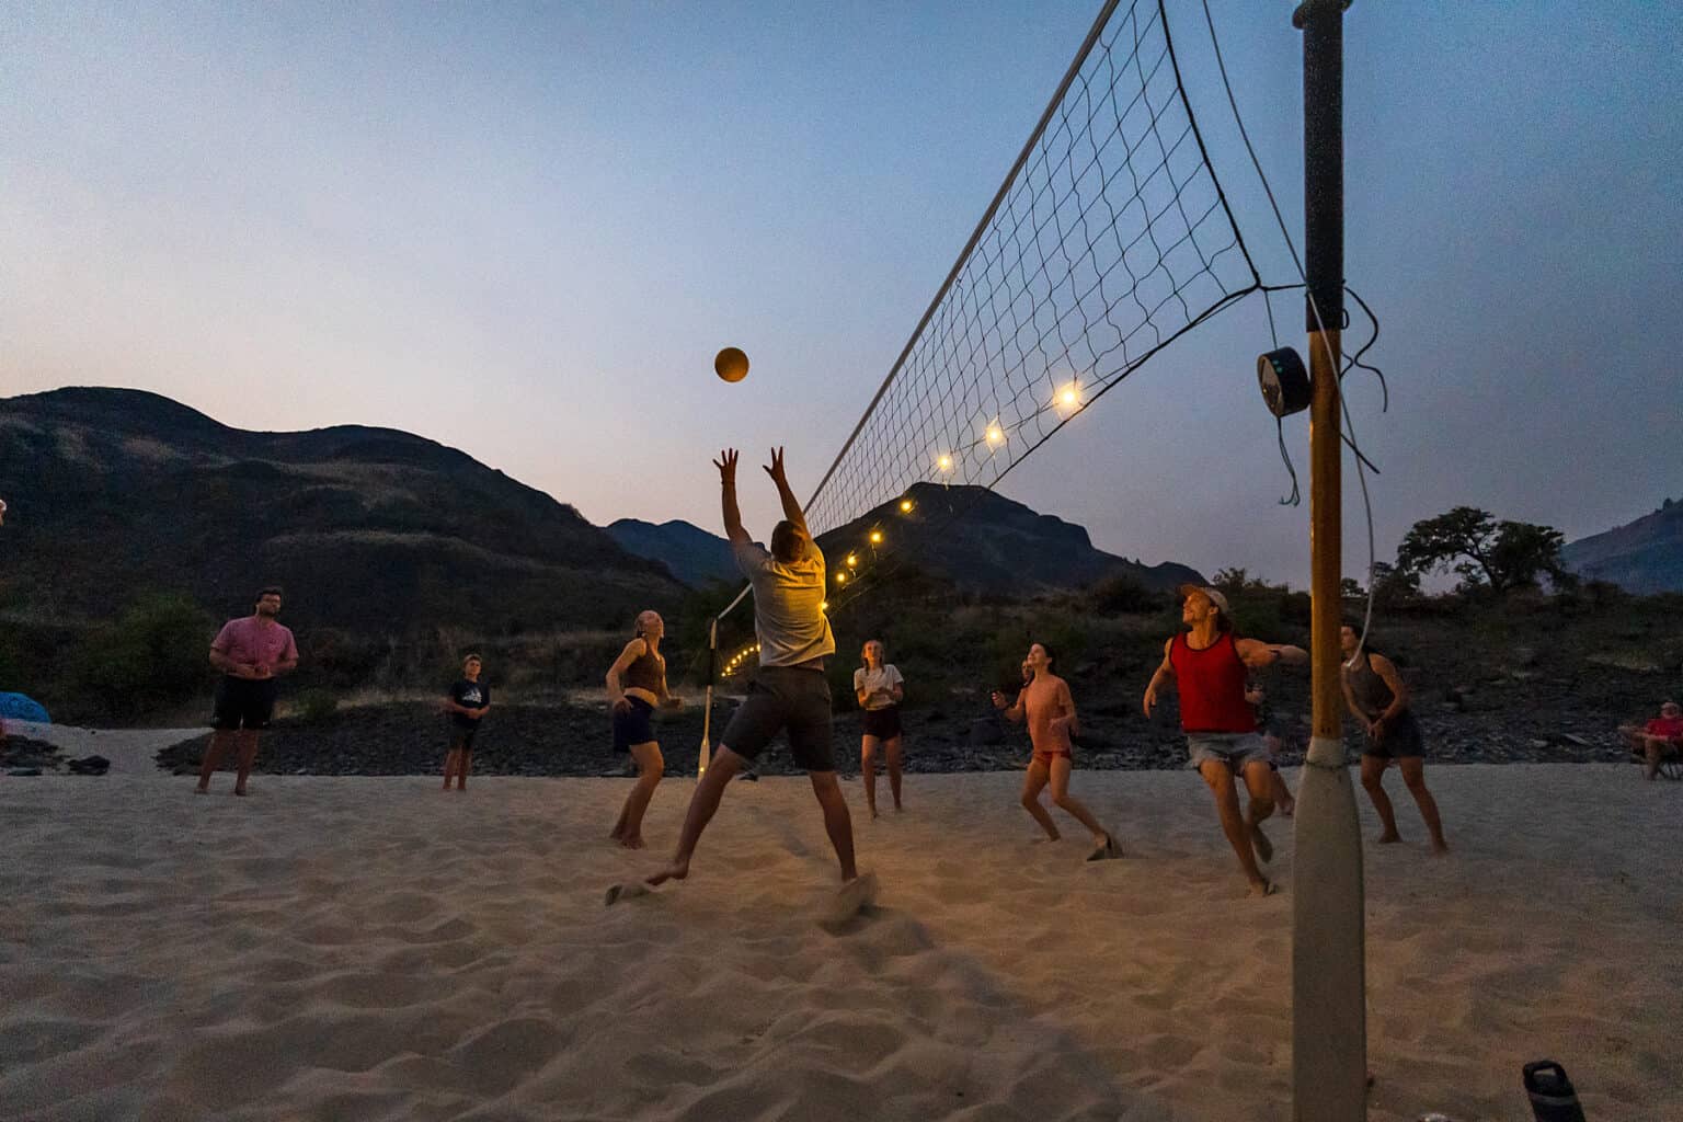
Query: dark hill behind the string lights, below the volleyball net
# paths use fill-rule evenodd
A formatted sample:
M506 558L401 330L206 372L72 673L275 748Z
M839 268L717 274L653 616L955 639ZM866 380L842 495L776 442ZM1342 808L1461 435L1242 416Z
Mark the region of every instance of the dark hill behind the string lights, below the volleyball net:
M870 530L880 527L889 557L961 589L1018 594L1079 589L1112 575L1129 575L1148 589L1203 584L1187 565L1143 565L1097 550L1082 527L1035 513L986 488L919 483L909 498L911 513L900 513L895 496L820 535L830 565L842 565L848 550L868 553Z

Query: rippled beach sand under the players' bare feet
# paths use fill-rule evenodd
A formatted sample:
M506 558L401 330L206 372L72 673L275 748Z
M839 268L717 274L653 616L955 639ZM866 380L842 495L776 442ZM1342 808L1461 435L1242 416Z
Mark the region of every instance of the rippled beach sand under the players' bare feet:
M1683 786L1429 777L1452 856L1395 777L1407 841L1367 848L1370 1117L1528 1119L1543 1056L1592 1120L1683 1117ZM879 823L855 784L880 900L833 932L804 781L735 784L692 878L613 908L690 781L641 855L603 839L624 781L434 784L0 777L0 1117L1291 1117L1294 843L1245 898L1190 772L1077 772L1099 863L1035 843L1011 774L916 775Z

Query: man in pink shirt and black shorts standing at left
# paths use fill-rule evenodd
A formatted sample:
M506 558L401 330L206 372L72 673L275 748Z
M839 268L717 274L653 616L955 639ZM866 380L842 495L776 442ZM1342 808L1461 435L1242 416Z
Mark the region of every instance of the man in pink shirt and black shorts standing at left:
M199 770L197 794L210 789L210 775L222 764L229 742L239 747L234 794L246 794L246 779L257 760L257 732L269 727L274 713L276 678L298 668L298 644L293 632L276 622L279 614L281 590L264 589L257 594L257 611L222 624L210 644L210 664L222 671L222 681L215 691L215 733Z

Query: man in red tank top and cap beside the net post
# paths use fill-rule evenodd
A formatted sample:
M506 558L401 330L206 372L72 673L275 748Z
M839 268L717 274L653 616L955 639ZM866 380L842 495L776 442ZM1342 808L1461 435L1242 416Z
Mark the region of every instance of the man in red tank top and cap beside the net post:
M1180 587L1180 619L1190 629L1163 644L1163 664L1146 686L1144 710L1158 701L1158 688L1173 678L1180 688L1180 725L1187 752L1215 796L1222 833L1250 881L1250 895L1266 897L1274 885L1259 866L1274 856L1262 821L1274 812L1269 754L1257 735L1256 708L1245 700L1245 675L1274 663L1303 666L1309 653L1282 643L1239 639L1229 619L1227 597L1193 584ZM1234 777L1244 775L1250 806L1240 812Z

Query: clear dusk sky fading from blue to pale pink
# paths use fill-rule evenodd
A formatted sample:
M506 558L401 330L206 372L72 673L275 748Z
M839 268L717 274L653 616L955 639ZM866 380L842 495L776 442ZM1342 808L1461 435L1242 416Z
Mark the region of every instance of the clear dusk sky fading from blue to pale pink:
M1289 0L1210 0L1301 246ZM1264 281L1296 279L1203 10L1187 94ZM1099 3L0 5L0 395L389 426L597 525L719 532L712 456L803 495L948 274ZM1375 540L1456 505L1595 533L1683 495L1683 7L1356 0L1346 382ZM1306 350L1301 303L1276 304ZM742 347L747 380L712 355ZM1257 298L1001 484L1101 548L1306 587ZM1308 422L1287 419L1306 479ZM1367 523L1345 466L1345 570ZM889 496L884 496L889 498Z

